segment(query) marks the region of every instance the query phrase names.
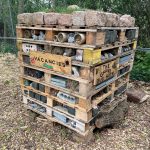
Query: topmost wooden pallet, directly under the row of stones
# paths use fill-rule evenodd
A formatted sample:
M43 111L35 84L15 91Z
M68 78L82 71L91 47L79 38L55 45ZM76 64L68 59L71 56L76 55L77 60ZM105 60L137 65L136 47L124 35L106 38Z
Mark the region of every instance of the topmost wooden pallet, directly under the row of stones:
M28 30L28 31L27 31ZM82 33L85 36L85 42L83 45L85 47L89 47L89 45L93 47L101 47L105 44L115 44L118 42L125 42L127 40L135 40L138 38L138 28L115 28L115 27L101 27L98 29L61 29L61 28L44 28L44 27L22 27L17 26L17 37L18 39L24 38L25 32L33 32L35 35L38 35L40 31L45 32L45 41L54 41L54 37L57 36L60 32L63 32L65 34L68 33ZM129 31L134 32L134 36L127 38L127 33ZM116 39L111 41L109 37L111 36L112 32L116 32ZM32 40L31 34L29 33L29 40ZM106 39L109 39L106 41ZM39 41L40 42L40 41ZM59 44L59 42L56 42L56 44ZM62 44L62 43L61 43ZM78 45L74 43L68 43L70 45Z

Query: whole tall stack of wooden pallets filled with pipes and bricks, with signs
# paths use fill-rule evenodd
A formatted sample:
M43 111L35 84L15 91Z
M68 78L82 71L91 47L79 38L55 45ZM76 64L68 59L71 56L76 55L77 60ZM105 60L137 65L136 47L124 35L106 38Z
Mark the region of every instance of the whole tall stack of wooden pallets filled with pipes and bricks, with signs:
M119 22L118 27L83 24L90 17L87 13L76 16L80 17L78 26L70 25L64 16L65 21L60 21L54 13L33 14L38 20L28 24L25 20L32 15L21 14L16 27L23 103L83 136L95 126L109 124L100 124L100 116L126 101L138 38L137 27L122 27ZM43 23L45 15L60 24ZM108 18L103 26L106 23Z

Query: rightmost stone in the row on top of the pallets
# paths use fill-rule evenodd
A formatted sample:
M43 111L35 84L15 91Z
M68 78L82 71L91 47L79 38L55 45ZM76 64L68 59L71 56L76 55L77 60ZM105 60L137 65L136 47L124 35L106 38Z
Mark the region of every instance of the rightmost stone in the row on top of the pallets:
M120 17L120 26L121 27L134 27L135 26L135 18L130 15L123 15Z

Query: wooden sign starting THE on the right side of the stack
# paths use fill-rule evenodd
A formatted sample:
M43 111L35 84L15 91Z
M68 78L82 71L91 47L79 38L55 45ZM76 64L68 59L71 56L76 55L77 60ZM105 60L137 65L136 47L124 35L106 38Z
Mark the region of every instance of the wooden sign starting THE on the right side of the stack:
M94 85L97 85L97 84L109 79L111 76L113 76L116 73L116 71L117 71L116 60L95 67L95 69L94 69Z

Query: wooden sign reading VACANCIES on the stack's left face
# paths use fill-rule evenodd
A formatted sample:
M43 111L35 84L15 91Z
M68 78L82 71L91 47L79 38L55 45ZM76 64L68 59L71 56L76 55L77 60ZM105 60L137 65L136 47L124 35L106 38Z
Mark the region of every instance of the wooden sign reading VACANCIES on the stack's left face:
M30 63L33 66L71 74L71 57L31 51Z

